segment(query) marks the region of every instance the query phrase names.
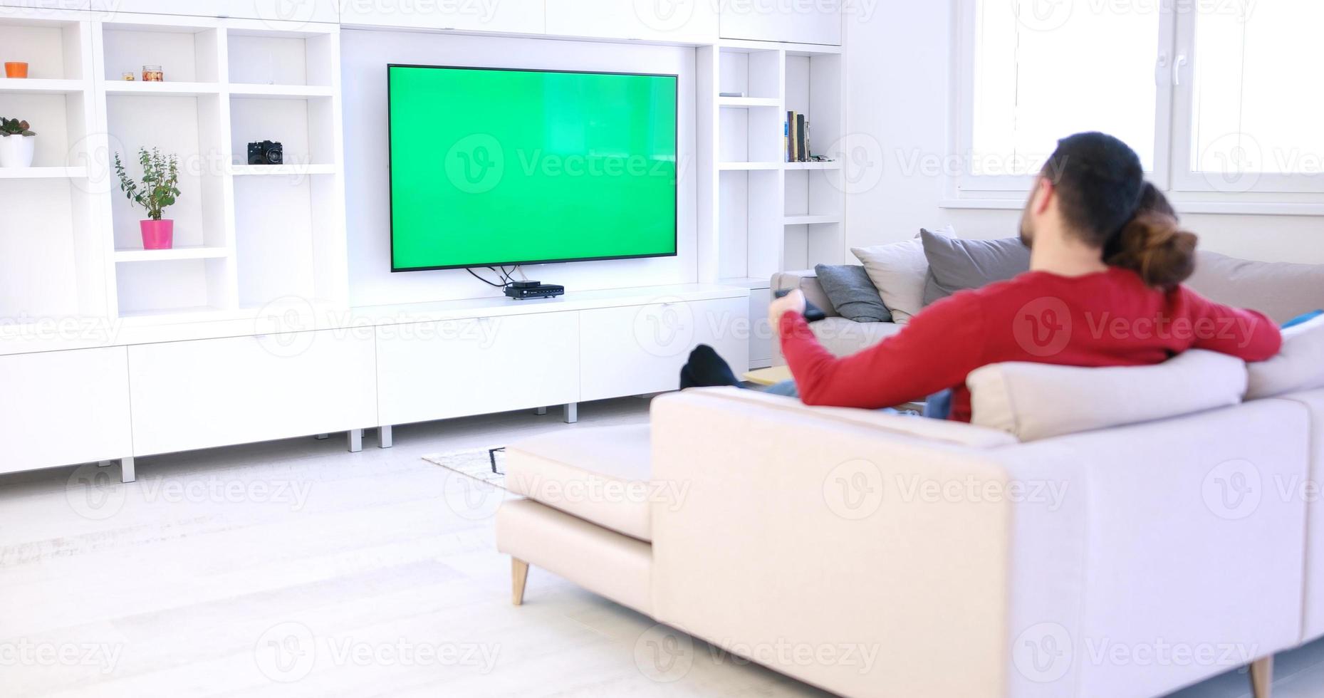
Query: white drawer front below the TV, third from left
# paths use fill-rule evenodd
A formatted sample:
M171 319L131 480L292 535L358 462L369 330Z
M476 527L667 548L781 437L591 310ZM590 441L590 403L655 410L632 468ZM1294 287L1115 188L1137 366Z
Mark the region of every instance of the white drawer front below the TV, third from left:
M576 403L579 366L573 311L380 326L381 424Z

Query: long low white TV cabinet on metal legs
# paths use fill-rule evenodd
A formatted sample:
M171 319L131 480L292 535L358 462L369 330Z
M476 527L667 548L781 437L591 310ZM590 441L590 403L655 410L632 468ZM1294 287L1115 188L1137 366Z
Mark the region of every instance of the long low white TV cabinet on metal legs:
M696 343L748 366L748 290L289 307L257 321L0 335L0 473L675 389Z

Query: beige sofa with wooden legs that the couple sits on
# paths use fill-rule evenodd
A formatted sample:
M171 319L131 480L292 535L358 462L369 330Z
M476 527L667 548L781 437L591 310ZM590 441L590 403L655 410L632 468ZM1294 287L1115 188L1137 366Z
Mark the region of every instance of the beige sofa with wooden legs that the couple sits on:
M851 697L1113 698L1253 665L1263 697L1324 637L1321 358L1316 319L1249 367L992 366L974 424L665 395L512 445L496 544L516 603L532 564L663 624L659 681L730 653Z

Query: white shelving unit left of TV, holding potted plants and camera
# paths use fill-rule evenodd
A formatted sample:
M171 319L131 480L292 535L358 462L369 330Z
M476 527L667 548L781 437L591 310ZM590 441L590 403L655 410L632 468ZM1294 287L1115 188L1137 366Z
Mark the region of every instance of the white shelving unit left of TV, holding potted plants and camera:
M0 115L38 134L33 167L0 168L0 321L347 302L338 25L11 8L0 45L30 74L0 79ZM166 81L122 79L144 65ZM250 140L286 164L248 164ZM139 147L179 156L175 249L142 249L119 191Z

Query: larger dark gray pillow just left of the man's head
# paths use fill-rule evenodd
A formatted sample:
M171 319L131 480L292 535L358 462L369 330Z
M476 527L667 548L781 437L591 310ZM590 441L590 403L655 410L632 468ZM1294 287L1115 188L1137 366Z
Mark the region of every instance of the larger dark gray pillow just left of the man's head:
M931 230L919 234L928 260L925 306L956 291L980 289L1030 270L1030 249L1018 237L961 240Z

